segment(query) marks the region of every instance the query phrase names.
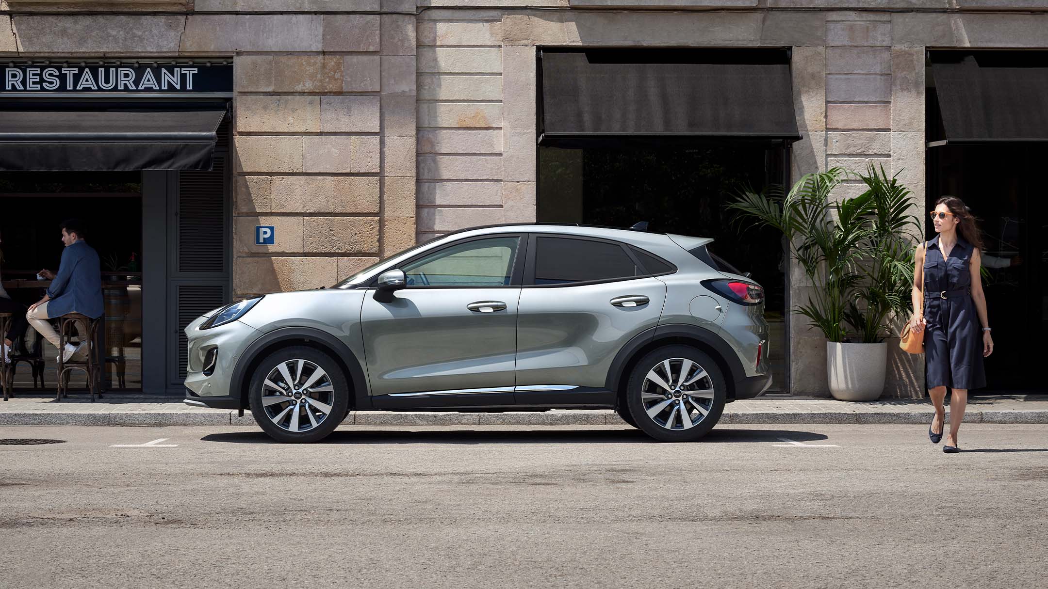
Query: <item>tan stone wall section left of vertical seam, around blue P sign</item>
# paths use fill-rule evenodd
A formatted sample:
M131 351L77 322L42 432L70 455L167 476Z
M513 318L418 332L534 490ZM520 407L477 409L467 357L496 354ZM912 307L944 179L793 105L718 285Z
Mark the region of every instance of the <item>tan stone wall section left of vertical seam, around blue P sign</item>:
M375 14L200 14L292 4ZM331 285L415 243L414 5L352 4L0 15L0 56L233 56L234 296Z

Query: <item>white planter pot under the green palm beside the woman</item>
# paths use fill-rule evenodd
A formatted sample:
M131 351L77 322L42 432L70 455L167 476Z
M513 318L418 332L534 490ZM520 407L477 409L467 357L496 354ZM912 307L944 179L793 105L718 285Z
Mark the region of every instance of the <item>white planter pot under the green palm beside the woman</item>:
M874 400L885 391L888 343L826 343L826 377L838 400Z

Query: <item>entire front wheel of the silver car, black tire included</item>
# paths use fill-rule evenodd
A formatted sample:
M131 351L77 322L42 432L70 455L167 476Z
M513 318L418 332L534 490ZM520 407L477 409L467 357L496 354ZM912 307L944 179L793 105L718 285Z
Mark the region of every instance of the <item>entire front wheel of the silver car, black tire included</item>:
M302 368L294 361L303 361ZM285 364L289 363L289 364ZM286 394L274 394L272 387L265 384L267 378L276 385L285 384L280 371L284 365L291 383ZM323 374L310 383L316 370ZM309 388L303 385L309 385ZM252 415L266 434L279 442L308 443L326 438L339 427L349 411L349 383L342 368L331 356L306 346L290 346L267 355L255 369L248 389ZM294 390L294 387L302 387ZM320 389L322 392L313 391ZM330 390L327 390L330 389ZM267 397L263 401L263 394ZM287 401L276 400L287 396ZM269 405L265 405L268 402ZM327 409L327 413L324 413ZM285 412L285 410L287 410ZM283 413L283 416L280 417ZM291 423L298 418L299 422ZM312 422L316 421L313 426ZM299 429L300 431L292 431Z

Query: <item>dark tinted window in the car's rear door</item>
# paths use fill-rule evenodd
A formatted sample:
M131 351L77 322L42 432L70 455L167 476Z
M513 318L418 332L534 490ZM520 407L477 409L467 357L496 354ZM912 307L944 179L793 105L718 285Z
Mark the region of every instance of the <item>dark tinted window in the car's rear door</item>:
M536 284L569 284L635 276L647 275L616 243L561 237L536 239Z

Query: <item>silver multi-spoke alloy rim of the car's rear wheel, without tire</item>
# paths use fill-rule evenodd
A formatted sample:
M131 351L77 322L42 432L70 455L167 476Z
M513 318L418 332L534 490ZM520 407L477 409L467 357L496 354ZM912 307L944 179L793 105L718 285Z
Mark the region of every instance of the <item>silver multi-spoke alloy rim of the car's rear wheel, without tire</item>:
M690 430L713 409L713 379L698 363L687 358L656 364L640 387L640 402L648 417L667 430Z

